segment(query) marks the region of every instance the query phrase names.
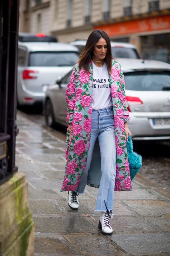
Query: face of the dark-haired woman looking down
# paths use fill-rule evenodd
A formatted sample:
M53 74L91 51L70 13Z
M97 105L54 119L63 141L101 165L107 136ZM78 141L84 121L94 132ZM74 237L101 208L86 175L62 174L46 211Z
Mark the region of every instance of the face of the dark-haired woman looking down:
M108 50L108 45L106 40L101 37L99 41L96 42L93 48L93 59L102 60L105 58Z

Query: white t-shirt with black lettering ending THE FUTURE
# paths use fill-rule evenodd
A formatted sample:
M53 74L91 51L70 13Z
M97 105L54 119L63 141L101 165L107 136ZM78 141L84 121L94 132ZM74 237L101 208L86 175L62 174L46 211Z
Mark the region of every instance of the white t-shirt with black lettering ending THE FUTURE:
M109 73L106 63L102 68L93 64L93 82L92 82L92 109L105 109L112 106L112 95L109 82Z

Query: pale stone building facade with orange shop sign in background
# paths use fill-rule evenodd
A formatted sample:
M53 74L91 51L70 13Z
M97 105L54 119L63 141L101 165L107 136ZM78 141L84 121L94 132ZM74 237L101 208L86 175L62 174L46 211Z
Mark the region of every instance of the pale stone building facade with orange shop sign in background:
M144 58L170 63L169 0L21 0L19 29L60 42L102 29L113 41L136 45Z

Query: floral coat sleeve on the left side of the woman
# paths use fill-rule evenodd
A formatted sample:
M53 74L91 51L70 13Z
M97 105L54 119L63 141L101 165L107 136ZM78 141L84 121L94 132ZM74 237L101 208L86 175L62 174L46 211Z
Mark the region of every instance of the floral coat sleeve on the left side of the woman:
M71 124L74 115L75 103L76 103L76 93L75 93L75 69L73 69L72 74L70 76L69 83L66 89L66 101L67 101L67 124Z

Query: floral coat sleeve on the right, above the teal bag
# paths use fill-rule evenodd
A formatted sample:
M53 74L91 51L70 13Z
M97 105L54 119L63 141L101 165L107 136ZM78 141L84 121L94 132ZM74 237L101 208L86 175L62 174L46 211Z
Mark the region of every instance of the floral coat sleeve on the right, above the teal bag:
M128 123L129 122L129 111L127 110L126 107L126 94L125 94L125 82L124 82L124 75L122 72L122 69L120 69L120 78L121 78L121 91L122 91L122 105L123 105L123 117L124 117L124 123Z

